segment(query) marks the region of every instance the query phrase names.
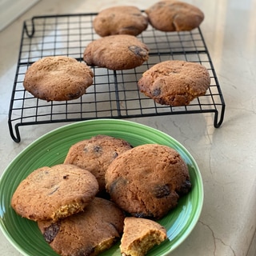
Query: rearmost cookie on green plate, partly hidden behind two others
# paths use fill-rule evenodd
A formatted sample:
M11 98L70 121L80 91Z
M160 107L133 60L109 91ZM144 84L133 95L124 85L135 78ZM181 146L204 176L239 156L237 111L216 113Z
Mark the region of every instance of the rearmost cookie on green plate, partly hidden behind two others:
M98 135L71 146L64 163L89 170L97 178L100 192L105 192L106 169L114 158L131 148L121 138Z

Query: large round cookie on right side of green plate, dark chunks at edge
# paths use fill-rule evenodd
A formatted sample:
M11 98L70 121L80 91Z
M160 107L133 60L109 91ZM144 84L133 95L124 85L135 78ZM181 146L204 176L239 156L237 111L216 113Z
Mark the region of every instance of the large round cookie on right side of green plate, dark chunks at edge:
M106 170L111 200L134 217L162 218L190 186L186 162L169 146L136 146Z

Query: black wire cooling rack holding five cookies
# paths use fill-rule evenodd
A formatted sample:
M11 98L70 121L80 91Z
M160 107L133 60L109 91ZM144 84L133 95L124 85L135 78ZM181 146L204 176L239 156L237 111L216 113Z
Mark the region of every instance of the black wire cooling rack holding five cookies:
M88 43L99 38L92 26L96 15L38 16L23 23L8 121L10 136L15 142L21 141L20 126L95 118L213 113L214 127L221 126L225 102L200 28L165 33L149 26L138 35L150 48L149 60L132 70L113 71L91 67L94 85L76 100L46 102L24 90L23 80L27 68L42 57L66 55L82 62L83 51ZM162 106L138 91L137 82L144 71L158 62L171 59L198 62L210 72L211 83L206 95L194 99L189 106Z

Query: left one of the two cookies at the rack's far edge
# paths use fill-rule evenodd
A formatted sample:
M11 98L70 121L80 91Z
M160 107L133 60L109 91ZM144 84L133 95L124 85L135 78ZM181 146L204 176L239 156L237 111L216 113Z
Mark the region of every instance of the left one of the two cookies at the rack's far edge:
M138 35L146 30L148 20L136 6L114 6L102 10L94 18L93 26L102 37L112 34Z

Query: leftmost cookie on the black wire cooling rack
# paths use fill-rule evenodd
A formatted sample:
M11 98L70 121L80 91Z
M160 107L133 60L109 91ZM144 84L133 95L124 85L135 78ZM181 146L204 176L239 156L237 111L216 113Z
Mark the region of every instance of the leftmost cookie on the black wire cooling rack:
M66 56L45 57L26 70L24 88L36 98L68 101L81 97L93 83L93 72L85 63Z

